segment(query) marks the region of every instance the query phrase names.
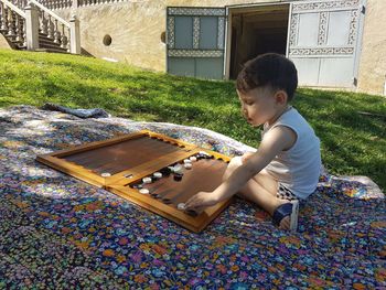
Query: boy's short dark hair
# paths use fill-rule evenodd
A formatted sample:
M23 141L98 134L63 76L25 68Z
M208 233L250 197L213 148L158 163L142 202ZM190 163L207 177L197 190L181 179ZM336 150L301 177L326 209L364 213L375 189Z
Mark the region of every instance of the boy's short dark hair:
M237 90L248 93L265 86L285 90L290 101L298 87L298 71L294 64L277 53L266 53L246 62L237 76Z

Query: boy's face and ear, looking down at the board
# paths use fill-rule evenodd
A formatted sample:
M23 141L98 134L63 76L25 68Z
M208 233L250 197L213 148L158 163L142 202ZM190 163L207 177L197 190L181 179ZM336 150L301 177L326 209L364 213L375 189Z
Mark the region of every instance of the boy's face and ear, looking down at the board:
M274 122L282 111L283 106L287 106L287 98L282 103L281 97L278 98L278 92L275 93L267 87L257 87L248 93L237 90L237 95L242 103L243 115L254 127L265 122Z

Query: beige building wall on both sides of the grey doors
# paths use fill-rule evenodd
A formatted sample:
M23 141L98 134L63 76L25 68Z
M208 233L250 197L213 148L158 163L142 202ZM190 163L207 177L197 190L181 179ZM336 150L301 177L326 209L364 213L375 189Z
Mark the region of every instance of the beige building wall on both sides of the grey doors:
M243 3L279 3L280 0L148 0L82 7L76 10L81 20L82 47L99 58L112 58L139 67L165 71L165 44L161 34L165 31L167 7L225 7ZM367 0L358 90L383 94L386 74L386 11L385 0ZM71 9L56 10L69 19ZM104 45L105 35L111 44Z

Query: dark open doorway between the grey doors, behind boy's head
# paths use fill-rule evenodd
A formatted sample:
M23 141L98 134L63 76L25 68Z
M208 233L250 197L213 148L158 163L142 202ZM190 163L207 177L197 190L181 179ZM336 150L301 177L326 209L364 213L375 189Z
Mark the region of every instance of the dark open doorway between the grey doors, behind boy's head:
M232 17L229 78L235 79L243 64L260 54L286 55L289 6L265 6L237 11Z

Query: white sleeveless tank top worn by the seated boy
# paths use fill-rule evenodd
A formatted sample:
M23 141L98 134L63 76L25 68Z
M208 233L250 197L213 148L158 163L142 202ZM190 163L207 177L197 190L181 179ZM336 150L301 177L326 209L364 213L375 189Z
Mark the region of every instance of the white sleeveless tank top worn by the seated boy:
M297 140L289 150L276 155L266 170L299 198L307 198L314 192L319 181L320 140L307 120L292 107L271 126L264 125L262 138L278 126L291 128L297 133Z

